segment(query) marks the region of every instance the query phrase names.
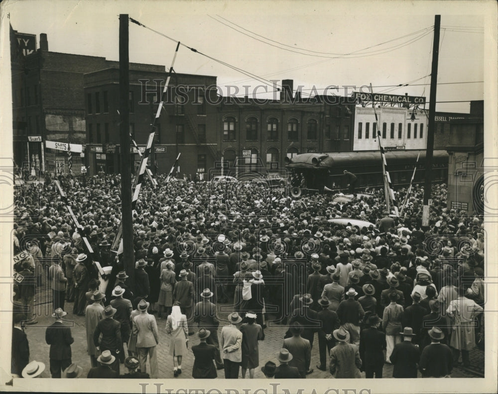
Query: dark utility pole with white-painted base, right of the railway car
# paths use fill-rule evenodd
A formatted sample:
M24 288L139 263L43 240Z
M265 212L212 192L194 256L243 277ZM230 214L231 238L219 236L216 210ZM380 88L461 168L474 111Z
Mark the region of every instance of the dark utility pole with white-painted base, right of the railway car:
M434 154L434 127L436 115L437 66L439 59L439 30L441 15L434 16L434 42L432 44L431 93L429 98L429 125L427 127L427 149L425 153L424 205L422 226L429 226L429 199L431 198L432 157Z

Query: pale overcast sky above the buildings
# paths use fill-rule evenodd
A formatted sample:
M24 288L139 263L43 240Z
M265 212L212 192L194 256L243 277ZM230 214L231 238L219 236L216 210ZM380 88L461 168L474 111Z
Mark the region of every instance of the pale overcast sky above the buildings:
M130 62L169 68L182 44L254 74L292 79L303 96L351 94L346 85L372 84L374 92L425 96L429 84L434 15L441 14L437 101L484 98L484 9L465 1L72 1L7 0L2 18L23 33L47 33L50 51L119 60L119 14L150 29L129 25ZM4 20L4 19L3 19ZM418 32L418 33L416 33ZM243 34L245 33L245 34ZM258 41L260 40L260 41ZM264 41L264 42L261 42ZM388 41L388 42L386 42ZM271 44L271 45L269 45ZM368 48L368 49L365 49ZM294 51L294 52L293 52ZM299 53L296 53L299 52ZM356 56L345 54L356 54ZM178 73L218 77L238 95L274 87L181 46ZM466 84L447 84L472 82ZM391 88L399 84L426 84ZM271 84L271 83L270 83ZM249 88L243 88L243 85ZM316 91L313 91L313 88ZM230 88L232 95L236 88ZM468 102L438 103L439 111L468 112Z

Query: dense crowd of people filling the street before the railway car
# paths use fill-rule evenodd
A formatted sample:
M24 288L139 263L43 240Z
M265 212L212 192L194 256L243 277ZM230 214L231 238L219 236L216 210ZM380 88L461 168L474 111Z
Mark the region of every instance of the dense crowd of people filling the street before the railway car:
M335 378L382 378L384 363L394 378L448 377L460 355L471 367L469 352L484 346L483 218L447 208L446 185L433 186L422 228L417 185L402 217L392 217L375 189L334 202L249 183L157 178L157 189L142 186L133 213L134 269L110 250L122 217L119 175L61 177L67 201L50 180L15 191L14 254L28 253L13 267L22 278L14 285L13 376L44 369L30 361L23 329L39 318L41 289L52 291L46 342L53 378L81 377L68 313L85 319L88 378L169 378L159 376L160 321L174 377L193 354L194 378L216 378L222 369L227 379L241 369L242 378L253 378L258 343L275 325L287 327L274 359L280 365L261 367L275 379L313 373L315 334L316 368ZM405 193L397 190L398 200ZM75 230L66 203L83 230ZM221 315L217 304L232 312ZM190 352L192 335L200 343Z

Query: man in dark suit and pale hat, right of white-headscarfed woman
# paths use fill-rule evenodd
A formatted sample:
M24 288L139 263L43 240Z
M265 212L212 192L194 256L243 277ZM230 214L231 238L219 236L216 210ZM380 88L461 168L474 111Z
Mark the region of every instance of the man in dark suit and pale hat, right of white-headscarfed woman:
M200 296L201 300L194 307L194 322L199 327L205 327L211 332L206 342L215 347L216 368L221 370L223 369L223 360L221 359L220 343L218 341L218 326L220 325L220 321L216 316L216 305L211 302L213 292L209 289L204 289Z

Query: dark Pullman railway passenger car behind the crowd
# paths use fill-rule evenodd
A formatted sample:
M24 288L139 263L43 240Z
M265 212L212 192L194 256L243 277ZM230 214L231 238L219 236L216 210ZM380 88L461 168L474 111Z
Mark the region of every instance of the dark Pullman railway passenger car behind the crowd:
M414 184L424 182L425 150L385 152L394 186L407 187L410 184L419 154ZM303 153L287 157L285 165L293 176L304 177L306 189L310 191L344 191L348 187L344 170L357 176L356 189L384 186L380 152ZM448 152L445 150L434 151L431 175L432 182L448 182Z

